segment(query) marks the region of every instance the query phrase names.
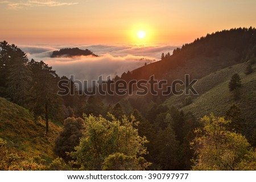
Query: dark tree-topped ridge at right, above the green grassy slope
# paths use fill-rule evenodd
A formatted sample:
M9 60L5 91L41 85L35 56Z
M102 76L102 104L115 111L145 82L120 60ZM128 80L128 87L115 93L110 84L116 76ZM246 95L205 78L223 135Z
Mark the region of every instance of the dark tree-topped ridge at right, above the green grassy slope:
M207 34L193 43L176 48L160 61L130 70L121 79L158 79L174 81L190 74L202 78L219 69L247 61L256 54L256 29L234 28Z

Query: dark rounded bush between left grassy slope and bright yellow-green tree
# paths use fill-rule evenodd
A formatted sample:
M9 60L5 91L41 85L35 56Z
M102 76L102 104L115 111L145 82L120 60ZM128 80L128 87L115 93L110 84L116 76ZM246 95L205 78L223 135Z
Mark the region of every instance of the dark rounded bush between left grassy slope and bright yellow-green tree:
M55 154L65 161L71 160L67 152L75 150L79 145L80 138L83 136L84 120L82 118L68 117L64 120L63 129L55 139Z

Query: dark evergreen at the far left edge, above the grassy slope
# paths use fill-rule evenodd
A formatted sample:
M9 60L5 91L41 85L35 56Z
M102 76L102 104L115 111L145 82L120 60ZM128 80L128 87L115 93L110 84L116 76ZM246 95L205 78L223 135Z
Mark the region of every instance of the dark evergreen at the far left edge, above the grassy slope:
M9 96L23 107L28 105L31 87L31 70L27 63L26 54L17 46L0 42L0 87L5 88L0 96Z

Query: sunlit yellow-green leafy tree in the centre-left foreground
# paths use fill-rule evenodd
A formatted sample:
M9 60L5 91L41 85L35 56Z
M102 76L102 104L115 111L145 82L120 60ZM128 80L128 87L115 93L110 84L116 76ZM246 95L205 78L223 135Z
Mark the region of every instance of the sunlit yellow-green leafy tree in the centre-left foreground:
M82 170L101 170L104 160L114 153L137 157L147 154L146 137L139 137L133 116L131 121L127 117L119 121L113 115L108 116L112 119L106 120L101 115L85 117L85 137L71 153Z

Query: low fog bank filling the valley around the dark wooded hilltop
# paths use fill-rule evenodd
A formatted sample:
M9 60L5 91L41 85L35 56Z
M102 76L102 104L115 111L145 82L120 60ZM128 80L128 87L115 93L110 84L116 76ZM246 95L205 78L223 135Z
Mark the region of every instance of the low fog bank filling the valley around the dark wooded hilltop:
M160 60L162 52L172 53L177 46L133 46L133 45L18 45L28 58L34 58L36 61L43 60L61 77L65 75L75 75L75 79L80 81L97 79L100 75L103 78L111 75L121 76L123 72L134 70L150 62ZM51 58L49 57L53 50L61 48L89 49L99 57L77 56L70 58Z

